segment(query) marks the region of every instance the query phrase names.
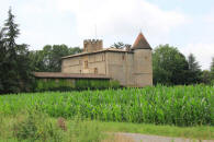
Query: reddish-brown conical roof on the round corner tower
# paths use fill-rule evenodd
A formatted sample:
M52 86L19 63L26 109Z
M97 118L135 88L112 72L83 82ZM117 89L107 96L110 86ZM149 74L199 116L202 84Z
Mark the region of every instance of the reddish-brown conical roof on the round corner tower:
M139 33L135 43L133 44L132 49L133 50L134 49L151 49L150 45L148 44L148 42L146 40L142 32Z

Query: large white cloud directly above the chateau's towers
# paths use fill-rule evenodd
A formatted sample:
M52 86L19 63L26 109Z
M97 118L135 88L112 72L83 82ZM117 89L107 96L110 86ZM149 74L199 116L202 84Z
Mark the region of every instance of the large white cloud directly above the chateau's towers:
M76 15L78 34L89 38L97 25L102 36L129 36L142 29L162 40L171 28L187 22L184 14L164 11L145 0L56 0L56 4Z

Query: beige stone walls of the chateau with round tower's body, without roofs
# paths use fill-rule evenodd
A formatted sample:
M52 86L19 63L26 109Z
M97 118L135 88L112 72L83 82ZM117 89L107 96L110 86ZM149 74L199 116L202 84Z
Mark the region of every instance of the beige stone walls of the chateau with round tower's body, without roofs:
M105 74L124 86L153 85L151 50L103 51L66 58L61 72Z

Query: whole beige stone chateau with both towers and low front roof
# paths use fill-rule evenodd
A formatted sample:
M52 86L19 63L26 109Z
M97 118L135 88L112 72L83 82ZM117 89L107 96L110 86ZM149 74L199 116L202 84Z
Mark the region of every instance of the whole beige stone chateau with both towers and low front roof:
M153 85L151 47L142 33L131 48L103 48L100 39L83 40L81 54L61 58L61 72L35 72L42 79L116 80L122 86Z

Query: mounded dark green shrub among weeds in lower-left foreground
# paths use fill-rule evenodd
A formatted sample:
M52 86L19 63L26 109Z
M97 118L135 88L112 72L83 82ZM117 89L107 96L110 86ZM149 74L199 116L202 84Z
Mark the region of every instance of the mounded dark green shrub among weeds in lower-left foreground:
M49 121L47 115L37 110L29 110L24 118L13 125L13 135L19 141L53 141L60 142L60 129Z

